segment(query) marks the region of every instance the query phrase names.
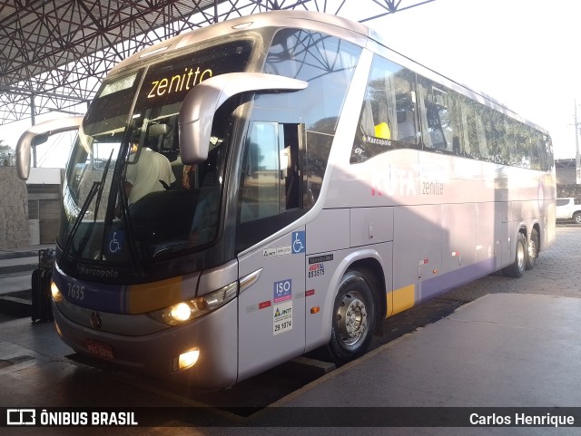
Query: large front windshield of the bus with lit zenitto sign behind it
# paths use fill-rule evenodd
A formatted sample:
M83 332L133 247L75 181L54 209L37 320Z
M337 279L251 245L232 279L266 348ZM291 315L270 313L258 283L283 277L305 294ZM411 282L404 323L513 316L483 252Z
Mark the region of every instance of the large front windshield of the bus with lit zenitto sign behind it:
M136 265L212 242L229 106L216 114L208 159L193 166L180 159L178 114L198 83L245 71L252 45L215 44L103 82L67 166L59 232L65 255Z

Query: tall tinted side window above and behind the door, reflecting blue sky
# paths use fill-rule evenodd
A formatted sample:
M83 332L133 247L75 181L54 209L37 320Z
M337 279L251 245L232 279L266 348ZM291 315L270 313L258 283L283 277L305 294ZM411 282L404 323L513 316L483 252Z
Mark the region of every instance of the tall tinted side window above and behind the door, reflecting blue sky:
M300 92L256 99L266 107L298 109L304 117L305 207L319 197L333 135L360 53L359 46L340 38L301 29L283 29L272 40L264 72L309 82Z

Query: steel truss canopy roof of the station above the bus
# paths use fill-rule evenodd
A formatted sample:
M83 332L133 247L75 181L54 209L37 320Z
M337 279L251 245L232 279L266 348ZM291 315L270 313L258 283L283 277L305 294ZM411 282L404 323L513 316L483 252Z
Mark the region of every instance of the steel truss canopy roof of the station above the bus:
M350 18L363 22L431 1L0 1L0 125L50 111L83 113L115 63L204 25L273 9L341 15L354 2L361 15Z

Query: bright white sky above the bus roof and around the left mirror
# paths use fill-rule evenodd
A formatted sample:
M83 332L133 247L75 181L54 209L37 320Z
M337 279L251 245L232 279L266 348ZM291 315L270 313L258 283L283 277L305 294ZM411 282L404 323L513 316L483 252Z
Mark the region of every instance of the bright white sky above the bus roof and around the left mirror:
M364 4L347 5L340 15ZM390 48L536 122L551 134L556 159L574 159L576 102L581 123L579 17L581 2L572 0L436 0L366 24ZM0 139L15 148L29 125L0 126ZM67 158L50 142L38 154L39 166L62 167Z

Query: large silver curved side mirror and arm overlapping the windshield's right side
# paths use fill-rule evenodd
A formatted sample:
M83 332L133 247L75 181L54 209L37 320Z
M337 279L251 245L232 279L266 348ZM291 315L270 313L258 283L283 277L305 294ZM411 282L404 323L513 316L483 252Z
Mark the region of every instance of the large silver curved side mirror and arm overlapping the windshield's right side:
M182 162L193 165L208 158L214 113L232 96L255 91L300 91L308 84L266 73L226 73L204 80L186 95L180 110Z

